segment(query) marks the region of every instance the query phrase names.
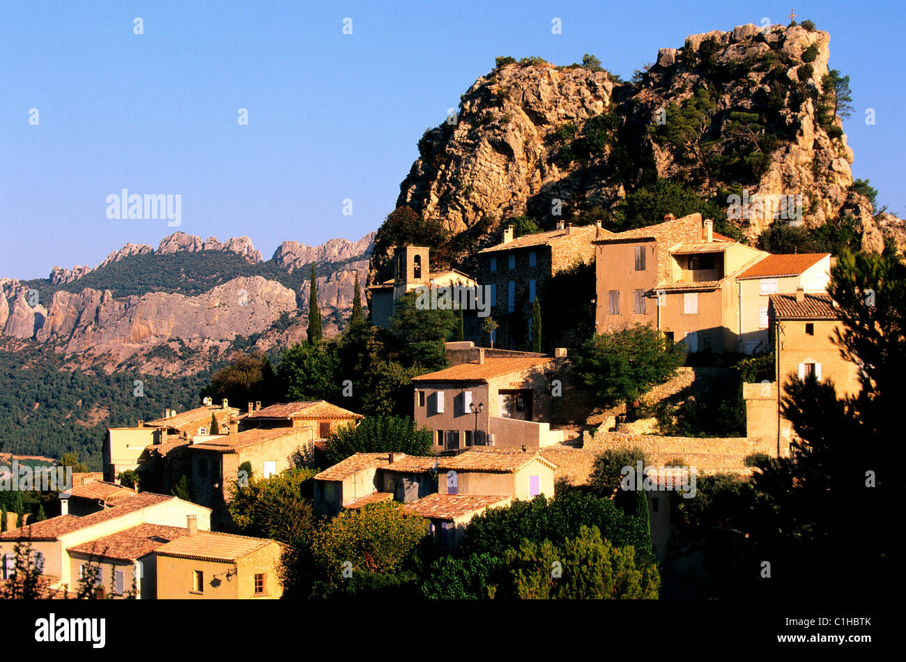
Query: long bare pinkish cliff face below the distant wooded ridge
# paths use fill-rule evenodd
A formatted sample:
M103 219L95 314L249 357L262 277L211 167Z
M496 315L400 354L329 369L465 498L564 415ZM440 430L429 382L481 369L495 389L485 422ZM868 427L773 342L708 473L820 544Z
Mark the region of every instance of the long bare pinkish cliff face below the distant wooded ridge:
M22 303L27 306L24 300ZM232 341L236 335L264 331L281 314L294 310L293 291L261 276L236 278L196 297L148 293L114 299L109 291L85 289L81 293L54 293L40 326L33 312L29 335L39 342L60 343L67 353L149 345L171 338ZM24 338L29 321L24 319L19 300L10 321L14 315L22 318L16 322L20 333L9 335Z

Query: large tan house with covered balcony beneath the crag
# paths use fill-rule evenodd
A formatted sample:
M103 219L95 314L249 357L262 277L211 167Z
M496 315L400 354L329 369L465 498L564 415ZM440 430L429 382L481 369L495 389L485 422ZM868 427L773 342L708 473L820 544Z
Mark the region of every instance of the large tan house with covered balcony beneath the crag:
M691 352L740 350L740 311L750 306L740 301L736 278L764 251L715 234L700 214L668 215L593 243L598 333L641 322Z

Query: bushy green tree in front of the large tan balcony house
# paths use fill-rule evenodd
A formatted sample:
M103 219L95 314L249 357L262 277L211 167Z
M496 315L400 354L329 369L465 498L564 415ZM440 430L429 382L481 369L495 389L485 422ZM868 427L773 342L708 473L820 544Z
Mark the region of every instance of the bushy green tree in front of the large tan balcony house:
M676 374L685 354L650 324L596 334L576 352L575 367L604 407L621 400L627 409Z

